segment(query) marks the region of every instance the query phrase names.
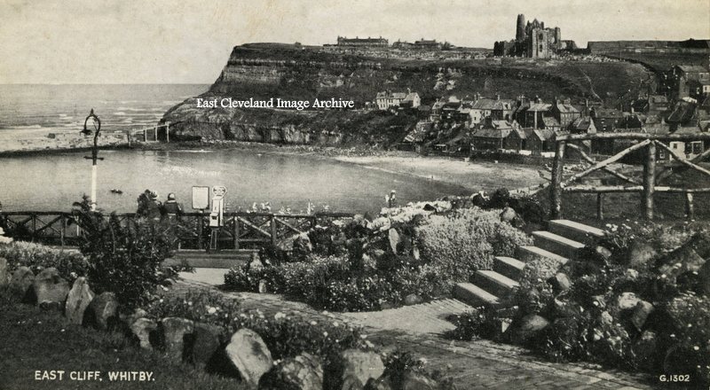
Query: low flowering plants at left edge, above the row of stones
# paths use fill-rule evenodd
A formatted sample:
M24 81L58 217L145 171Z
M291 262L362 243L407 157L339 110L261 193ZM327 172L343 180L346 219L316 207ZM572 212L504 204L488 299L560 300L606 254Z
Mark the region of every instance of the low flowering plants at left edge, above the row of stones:
M42 269L54 267L59 271L59 276L70 284L76 277L86 276L90 268L89 262L80 253L22 241L0 246L0 257L7 259L10 271L24 266L36 274Z

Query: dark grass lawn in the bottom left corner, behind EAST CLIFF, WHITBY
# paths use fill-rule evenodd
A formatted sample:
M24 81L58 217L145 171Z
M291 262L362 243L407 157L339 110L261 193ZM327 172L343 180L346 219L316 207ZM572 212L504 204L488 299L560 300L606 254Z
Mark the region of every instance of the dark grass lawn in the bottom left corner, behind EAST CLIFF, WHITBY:
M2 298L2 297L0 297ZM64 370L63 380L37 380L36 371ZM72 371L79 371L72 374ZM70 375L100 371L102 380ZM148 371L150 381L111 381L109 371ZM59 375L59 374L57 374ZM191 365L170 363L140 350L121 333L67 324L59 313L45 313L0 300L0 389L240 389L237 379L209 375Z

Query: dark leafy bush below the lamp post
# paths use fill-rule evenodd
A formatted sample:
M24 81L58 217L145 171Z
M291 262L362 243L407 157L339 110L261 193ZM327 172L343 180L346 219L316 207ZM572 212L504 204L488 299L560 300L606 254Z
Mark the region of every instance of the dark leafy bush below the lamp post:
M161 270L170 253L167 231L147 221L124 225L114 213L106 219L86 198L75 203L75 219L84 233L79 247L89 261L91 288L114 292L124 310L148 303L168 277Z

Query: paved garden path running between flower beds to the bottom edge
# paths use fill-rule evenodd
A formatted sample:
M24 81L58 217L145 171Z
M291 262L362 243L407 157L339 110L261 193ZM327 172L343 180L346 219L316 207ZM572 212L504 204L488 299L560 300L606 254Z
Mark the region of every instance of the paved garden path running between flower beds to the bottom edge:
M185 277L185 280L178 282L176 289L217 289L217 285L222 284L221 280L204 277L199 269L195 274L181 276ZM649 379L643 375L617 370L603 371L592 365L549 363L530 355L525 348L496 344L488 340L445 339L441 333L453 329L454 326L444 318L466 309L466 305L458 300L435 300L380 312L328 313L320 312L303 302L286 300L276 294L224 293L240 298L244 308L258 308L267 316L277 312L296 311L314 321L360 324L365 328L368 339L384 351L400 347L424 357L429 370L440 370L447 377L454 378L455 385L461 390L652 388L648 385Z

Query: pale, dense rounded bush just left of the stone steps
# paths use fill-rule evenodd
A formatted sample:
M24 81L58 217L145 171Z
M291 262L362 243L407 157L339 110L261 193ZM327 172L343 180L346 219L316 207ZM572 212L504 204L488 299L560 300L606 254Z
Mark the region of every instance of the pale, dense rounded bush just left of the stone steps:
M479 208L433 215L416 229L422 259L437 267L451 283L467 281L477 269L491 269L493 256L512 256L531 239L501 222L500 210Z

